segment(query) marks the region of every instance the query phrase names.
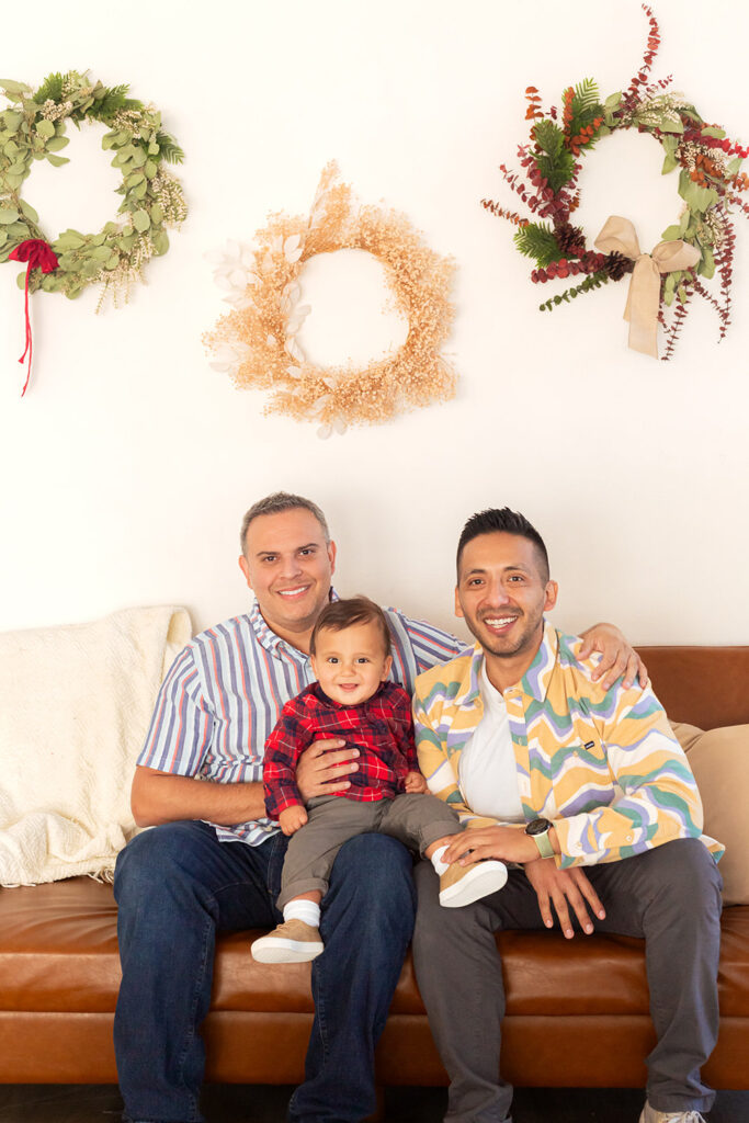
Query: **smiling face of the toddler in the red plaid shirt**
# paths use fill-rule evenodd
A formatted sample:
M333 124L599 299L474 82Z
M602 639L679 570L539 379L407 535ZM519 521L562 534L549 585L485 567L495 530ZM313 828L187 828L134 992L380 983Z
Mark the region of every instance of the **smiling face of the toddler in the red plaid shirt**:
M376 623L318 632L312 669L329 699L342 705L366 702L387 678L392 658Z

